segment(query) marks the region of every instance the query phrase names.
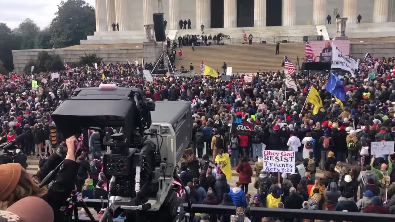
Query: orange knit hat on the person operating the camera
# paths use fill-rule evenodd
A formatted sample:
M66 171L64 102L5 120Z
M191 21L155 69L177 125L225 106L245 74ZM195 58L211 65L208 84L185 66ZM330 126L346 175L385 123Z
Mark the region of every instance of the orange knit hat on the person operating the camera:
M21 178L21 164L0 165L0 201L4 201L15 189Z

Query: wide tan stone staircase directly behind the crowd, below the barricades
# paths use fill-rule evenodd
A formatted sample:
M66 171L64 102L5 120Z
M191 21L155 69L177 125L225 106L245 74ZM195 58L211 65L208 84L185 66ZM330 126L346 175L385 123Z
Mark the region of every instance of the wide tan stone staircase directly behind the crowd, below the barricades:
M177 48L177 52L180 48ZM284 56L288 56L295 65L296 56L299 56L301 65L305 56L304 43L281 43L280 54L275 55L275 44L253 44L253 45L210 45L196 46L194 51L191 47L182 47L182 60L178 60L176 55L175 66L180 68L181 64L188 68L192 63L196 74L199 73L199 66L202 59L205 65L222 73L222 62L226 62L228 67L232 67L232 73L256 73L261 71L278 71L284 61ZM200 73L199 73L200 74Z

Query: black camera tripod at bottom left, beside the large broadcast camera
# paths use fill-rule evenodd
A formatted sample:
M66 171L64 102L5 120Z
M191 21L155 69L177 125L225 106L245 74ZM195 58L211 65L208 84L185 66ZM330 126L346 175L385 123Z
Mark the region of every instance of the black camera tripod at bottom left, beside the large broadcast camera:
M78 207L82 207L85 210L85 212L87 212L88 217L90 218L90 221L92 221L92 222L96 221L95 218L93 217L92 213L90 213L90 210L88 209L88 206L83 201L83 199L77 198L77 190L74 189L71 192L70 201L68 201L68 205L66 204L65 206L63 206L61 208L61 210L63 210L66 213L68 222L72 221L73 214L74 214L74 220L75 221L78 220Z

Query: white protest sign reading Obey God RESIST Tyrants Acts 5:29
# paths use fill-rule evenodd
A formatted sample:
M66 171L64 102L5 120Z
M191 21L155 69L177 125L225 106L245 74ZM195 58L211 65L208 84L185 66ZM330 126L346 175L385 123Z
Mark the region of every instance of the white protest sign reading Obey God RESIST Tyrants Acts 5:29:
M264 150L263 170L276 173L295 173L295 152Z

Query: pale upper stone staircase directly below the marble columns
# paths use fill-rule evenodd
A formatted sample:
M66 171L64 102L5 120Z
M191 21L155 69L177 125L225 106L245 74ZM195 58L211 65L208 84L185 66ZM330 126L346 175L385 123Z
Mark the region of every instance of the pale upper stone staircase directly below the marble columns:
M205 28L204 34L209 36L223 33L230 38L243 38L243 30L247 36L251 33L254 38L275 37L275 36L316 36L317 31L313 25L294 25L294 26L266 26L266 27L244 27L244 28ZM177 36L187 34L201 34L199 29L181 29Z

